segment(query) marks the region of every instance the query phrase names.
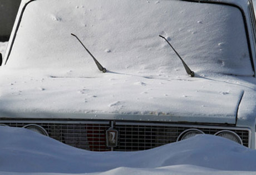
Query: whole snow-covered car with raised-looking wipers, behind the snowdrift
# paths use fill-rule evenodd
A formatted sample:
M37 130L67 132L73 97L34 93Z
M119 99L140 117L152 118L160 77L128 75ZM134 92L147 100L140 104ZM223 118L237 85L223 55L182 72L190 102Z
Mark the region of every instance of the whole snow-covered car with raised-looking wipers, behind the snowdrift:
M255 148L255 34L250 0L24 0L0 123L91 151L200 133Z

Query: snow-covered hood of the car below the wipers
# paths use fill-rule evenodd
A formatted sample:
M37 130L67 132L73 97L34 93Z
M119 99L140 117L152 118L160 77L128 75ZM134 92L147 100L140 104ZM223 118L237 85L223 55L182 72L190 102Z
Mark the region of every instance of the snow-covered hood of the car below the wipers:
M242 86L206 78L4 76L1 117L235 123Z

